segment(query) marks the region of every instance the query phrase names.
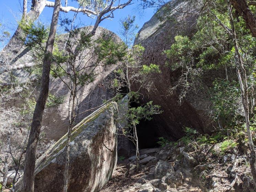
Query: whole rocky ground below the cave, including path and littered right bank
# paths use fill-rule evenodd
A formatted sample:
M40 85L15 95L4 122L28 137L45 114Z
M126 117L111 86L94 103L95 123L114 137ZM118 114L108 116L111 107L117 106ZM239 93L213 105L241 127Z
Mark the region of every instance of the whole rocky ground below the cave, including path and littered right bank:
M135 171L135 156L121 160L100 192L253 192L244 153L238 148L222 153L220 145L179 142L142 149L141 170Z

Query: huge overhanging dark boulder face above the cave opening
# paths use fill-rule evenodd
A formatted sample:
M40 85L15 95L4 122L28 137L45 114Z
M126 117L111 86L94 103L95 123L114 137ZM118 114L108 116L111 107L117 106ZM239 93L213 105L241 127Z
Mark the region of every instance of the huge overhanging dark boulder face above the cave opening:
M199 7L199 6L198 6ZM143 90L142 101L153 101L162 106L163 113L155 115L151 122L157 129L158 136L169 139L180 138L183 126L196 128L199 132L208 132L212 127L208 116L209 98L207 95L188 94L183 103L178 104L177 93L170 94L168 89L175 85L181 71L171 71L166 66L163 51L174 43L176 35L191 36L196 31L197 6L188 1L173 0L166 7L159 9L138 32L134 44L145 47L144 64L158 64L162 73L154 81L154 91ZM165 16L164 16L165 15ZM137 85L133 87L137 88Z

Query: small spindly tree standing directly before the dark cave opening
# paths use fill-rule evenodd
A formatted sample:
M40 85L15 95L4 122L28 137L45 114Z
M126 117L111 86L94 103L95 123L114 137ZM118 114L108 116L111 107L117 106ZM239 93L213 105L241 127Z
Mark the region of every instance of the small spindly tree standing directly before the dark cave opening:
M113 86L118 93L122 93L123 88L126 88L129 105L132 102L138 102L141 89L152 91L153 75L160 73L158 65L142 65L141 58L144 52L144 47L135 45L133 48L129 49L135 37L135 30L138 28L134 23L135 16L129 15L124 20L121 20L121 34L126 43L126 53L123 64L115 71L116 78L113 82ZM134 89L134 87L138 88ZM129 124L127 127L123 127L122 131L135 145L137 170L140 168L140 153L138 149L136 126L141 120L150 120L151 115L159 114L159 108L159 105L153 105L153 102L151 101L139 107L129 108L127 115L125 116Z

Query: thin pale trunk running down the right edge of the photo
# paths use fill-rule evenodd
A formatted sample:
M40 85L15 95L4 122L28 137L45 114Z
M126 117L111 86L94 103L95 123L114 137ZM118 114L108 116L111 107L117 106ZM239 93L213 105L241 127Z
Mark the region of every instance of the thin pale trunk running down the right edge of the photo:
M250 167L251 167L251 172L252 172L252 176L254 179L254 183L256 183L256 168L255 168L256 155L255 155L254 144L253 144L253 139L252 139L251 130L250 130L246 70L244 68L242 57L239 52L239 48L238 48L238 44L237 44L237 40L236 40L237 37L236 37L236 31L235 31L235 27L234 27L234 20L233 20L230 4L229 4L229 14L230 14L230 23L231 23L232 32L233 32L233 41L234 41L234 46L235 46L236 72L237 72L237 77L238 77L238 81L239 81L240 89L241 89L242 103L244 106L244 113L245 113L246 131L247 131L248 143L249 143L249 148L250 148L250 153L251 153L250 157L249 157L249 162L250 162ZM242 76L241 76L240 70L242 71Z

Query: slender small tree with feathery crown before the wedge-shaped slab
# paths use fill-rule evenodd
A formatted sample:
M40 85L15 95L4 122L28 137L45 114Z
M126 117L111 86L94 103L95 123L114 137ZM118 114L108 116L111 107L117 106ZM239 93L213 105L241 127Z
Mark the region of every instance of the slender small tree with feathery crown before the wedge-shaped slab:
M101 72L100 67L115 65L123 57L122 44L115 43L105 32L101 34L102 37L95 39L88 35L88 29L70 31L67 41L63 41L65 44L61 45L65 49L61 50L56 45L53 52L51 74L59 78L69 90L64 192L68 190L70 136L75 118L81 114L77 114L78 91L94 80L94 77Z

